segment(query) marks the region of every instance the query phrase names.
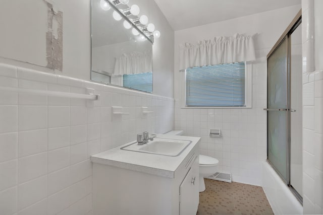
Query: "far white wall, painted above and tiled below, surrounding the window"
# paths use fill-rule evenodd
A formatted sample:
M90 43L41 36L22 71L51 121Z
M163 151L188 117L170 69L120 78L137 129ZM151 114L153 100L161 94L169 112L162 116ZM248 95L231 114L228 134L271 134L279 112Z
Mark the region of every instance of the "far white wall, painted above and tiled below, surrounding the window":
M201 136L200 152L220 160L220 171L233 181L261 185L261 162L266 159L266 54L290 24L300 5L175 32L175 129ZM214 36L256 34L252 62L251 109L183 109L180 107L179 44ZM221 128L222 138L210 138L209 129Z

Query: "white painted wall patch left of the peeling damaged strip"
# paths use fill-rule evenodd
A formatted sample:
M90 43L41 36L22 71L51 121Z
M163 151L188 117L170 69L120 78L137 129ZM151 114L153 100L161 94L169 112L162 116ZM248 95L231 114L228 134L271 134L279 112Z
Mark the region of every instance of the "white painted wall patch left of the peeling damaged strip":
M48 7L44 1L30 2L1 2L0 26L3 33L0 36L0 56L46 66L46 35L39 32L47 29ZM13 8L15 10L11 10ZM8 21L13 24L8 25ZM33 23L34 27L30 28L26 23Z

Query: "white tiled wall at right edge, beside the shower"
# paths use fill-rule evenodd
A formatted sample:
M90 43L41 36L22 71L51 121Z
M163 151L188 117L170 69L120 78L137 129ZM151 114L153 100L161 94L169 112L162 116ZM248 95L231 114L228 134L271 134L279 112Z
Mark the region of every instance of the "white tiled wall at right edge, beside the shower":
M306 214L321 214L323 208L323 71L312 71L303 76L303 83L314 88L307 97L314 97L311 105L303 104L303 207ZM318 91L318 92L317 92Z

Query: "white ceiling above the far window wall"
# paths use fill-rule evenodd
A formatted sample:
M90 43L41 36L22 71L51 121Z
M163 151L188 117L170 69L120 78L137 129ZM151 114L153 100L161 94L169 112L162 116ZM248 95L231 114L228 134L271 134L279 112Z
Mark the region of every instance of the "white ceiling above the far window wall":
M154 0L177 31L301 4L301 0Z

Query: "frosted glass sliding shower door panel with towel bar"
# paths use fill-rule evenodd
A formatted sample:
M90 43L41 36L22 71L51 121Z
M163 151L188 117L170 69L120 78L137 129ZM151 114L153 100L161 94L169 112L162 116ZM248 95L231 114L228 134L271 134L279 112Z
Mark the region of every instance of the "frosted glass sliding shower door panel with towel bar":
M267 160L289 183L289 74L288 38L282 40L267 61Z

